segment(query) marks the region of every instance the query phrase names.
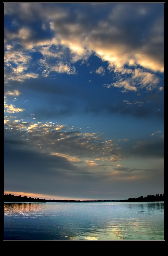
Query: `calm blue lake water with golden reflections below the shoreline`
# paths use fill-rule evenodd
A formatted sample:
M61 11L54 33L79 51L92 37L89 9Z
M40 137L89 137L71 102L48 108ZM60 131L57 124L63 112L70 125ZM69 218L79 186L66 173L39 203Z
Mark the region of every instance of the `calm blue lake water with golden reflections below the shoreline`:
M4 240L164 240L164 202L4 203Z

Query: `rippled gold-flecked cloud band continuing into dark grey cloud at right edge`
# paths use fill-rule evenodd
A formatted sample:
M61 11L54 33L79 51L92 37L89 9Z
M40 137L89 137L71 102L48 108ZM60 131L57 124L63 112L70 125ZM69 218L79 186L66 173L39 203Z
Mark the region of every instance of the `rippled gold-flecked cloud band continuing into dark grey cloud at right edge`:
M72 162L80 159L93 165L95 160L108 163L136 156L164 157L164 138L137 143L128 139L105 140L99 133L82 133L73 127L52 122L23 122L9 116L5 118L4 125L4 136L10 138L14 133L15 138L22 138L28 147L33 146L41 152L62 156Z

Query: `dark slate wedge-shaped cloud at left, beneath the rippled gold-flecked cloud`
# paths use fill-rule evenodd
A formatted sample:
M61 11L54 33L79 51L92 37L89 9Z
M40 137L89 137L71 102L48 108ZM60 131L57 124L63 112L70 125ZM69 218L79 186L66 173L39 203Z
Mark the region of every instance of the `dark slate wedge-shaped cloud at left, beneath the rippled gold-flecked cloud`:
M19 143L16 141L10 141L10 144L18 145ZM17 172L20 174L28 172L32 175L35 171L35 176L38 176L39 174L47 174L50 176L52 175L52 171L50 170L51 168L55 168L55 175L61 175L61 170L76 170L76 167L67 161L66 158L38 152L35 148L34 150L33 148L31 149L31 147L29 147L29 149L13 148L9 146L9 141L7 147L6 141L4 142L4 154L5 168L9 165L11 172L13 172L12 166L15 166L15 175ZM9 158L10 162L8 161Z

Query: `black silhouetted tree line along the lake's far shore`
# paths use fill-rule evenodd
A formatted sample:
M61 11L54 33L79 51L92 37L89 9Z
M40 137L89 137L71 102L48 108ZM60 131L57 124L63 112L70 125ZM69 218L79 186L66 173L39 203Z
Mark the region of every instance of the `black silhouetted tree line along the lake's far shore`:
M155 202L155 201L164 201L164 194L156 194L156 195L148 195L147 197L129 197L125 200L55 200L55 199L39 199L39 198L32 198L27 196L15 196L11 194L4 194L4 202L70 202L70 203L88 203L88 202Z

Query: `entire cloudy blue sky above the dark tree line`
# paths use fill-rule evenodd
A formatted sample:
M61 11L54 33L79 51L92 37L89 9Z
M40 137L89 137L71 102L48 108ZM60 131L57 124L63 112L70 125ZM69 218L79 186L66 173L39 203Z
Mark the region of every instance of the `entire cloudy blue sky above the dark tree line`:
M164 3L4 3L4 193L164 193Z

